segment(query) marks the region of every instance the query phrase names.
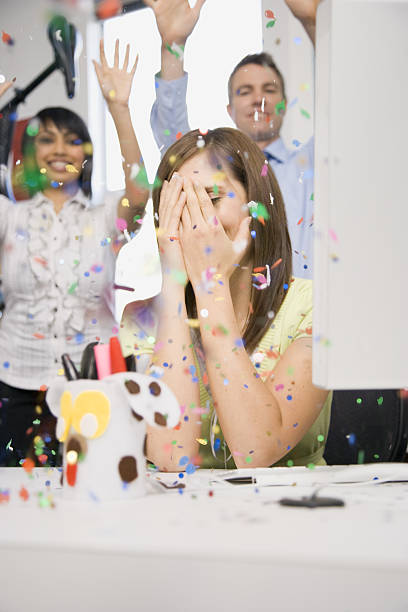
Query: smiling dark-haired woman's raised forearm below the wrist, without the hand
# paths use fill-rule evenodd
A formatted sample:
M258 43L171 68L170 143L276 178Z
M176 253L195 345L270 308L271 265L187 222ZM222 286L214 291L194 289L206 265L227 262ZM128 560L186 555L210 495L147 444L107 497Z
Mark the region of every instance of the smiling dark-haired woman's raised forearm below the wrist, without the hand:
M129 230L137 230L140 225L135 223L134 217L144 215L150 193L146 185L138 184L133 177L135 168L139 168L142 173L144 171L142 155L133 129L129 107L111 102L108 108L118 135L125 173L125 195L118 205L118 217L125 219Z

